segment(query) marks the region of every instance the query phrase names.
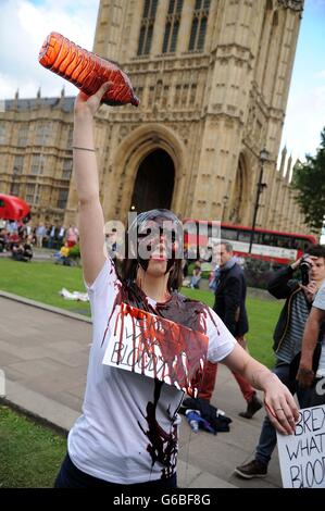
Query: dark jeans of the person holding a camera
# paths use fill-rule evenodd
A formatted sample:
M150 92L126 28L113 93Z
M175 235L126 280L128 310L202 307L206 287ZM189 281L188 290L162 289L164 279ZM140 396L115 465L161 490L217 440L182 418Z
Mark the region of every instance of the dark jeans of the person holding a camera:
M299 387L295 379L289 378L290 365L284 362L277 362L272 371L288 387L292 396L297 394L297 398L301 408L314 406L311 399L311 390ZM268 416L266 415L262 425L260 440L257 446L255 459L262 463L267 463L271 460L272 452L276 446L276 432L272 425Z

